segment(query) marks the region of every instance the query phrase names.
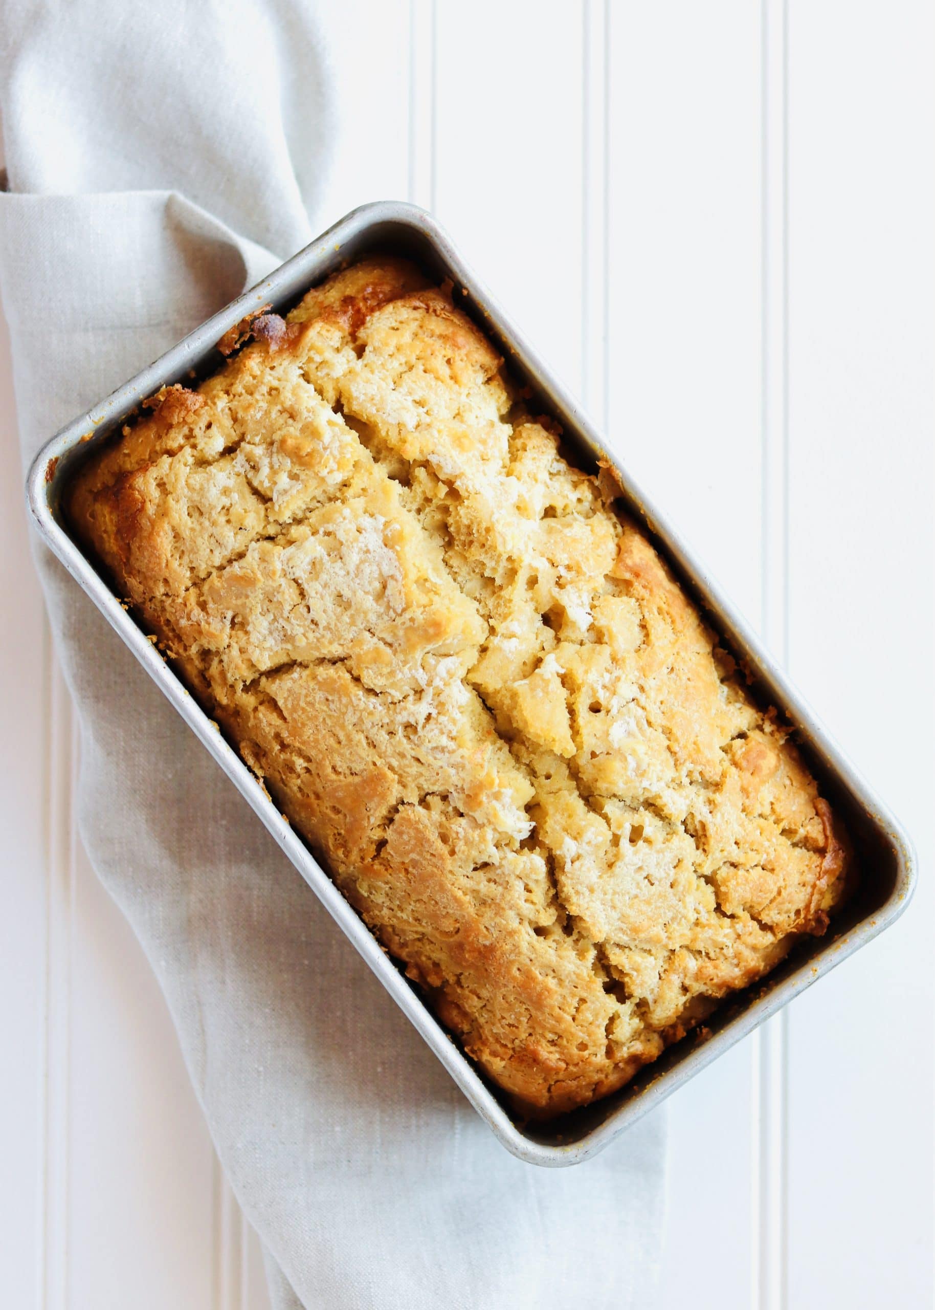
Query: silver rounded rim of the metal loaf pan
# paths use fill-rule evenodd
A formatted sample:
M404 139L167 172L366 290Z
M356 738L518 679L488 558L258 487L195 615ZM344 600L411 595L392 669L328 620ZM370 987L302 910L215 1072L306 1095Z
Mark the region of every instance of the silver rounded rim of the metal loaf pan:
M512 362L536 380L550 405L560 413L564 423L571 426L575 439L587 447L595 457L602 457L614 466L627 495L639 506L652 534L664 542L670 559L676 561L680 570L691 579L694 588L701 593L703 604L714 616L714 626L720 625L720 630L729 634L731 642L742 650L744 656L749 659L757 676L769 689L769 694L774 697L778 709L803 734L809 749L820 755L826 774L835 778L839 789L866 811L868 823L885 844L893 859L893 886L883 904L855 922L841 938L832 941L829 947L815 960L803 960L799 967L792 968L787 977L771 986L765 994L754 997L741 1013L729 1020L728 1026L715 1032L708 1040L693 1041L688 1038L676 1048L670 1048L681 1052L670 1068L659 1077L651 1077L648 1083L635 1094L627 1095L627 1090L622 1089L622 1093L608 1098L610 1107L604 1120L568 1142L542 1141L540 1140L541 1131L537 1136L534 1128L529 1128L511 1116L496 1091L479 1076L477 1066L461 1052L428 1006L415 994L398 967L392 963L350 903L275 808L254 774L220 734L213 720L185 690L181 680L170 671L152 642L123 609L119 597L107 587L89 558L65 532L59 517L59 491L67 477L68 465L77 452L88 447L89 441L93 443L100 434L111 431L117 423L136 409L143 398L157 392L160 386L179 380L190 368L211 359L216 342L234 324L267 303L280 305L295 299L300 291L308 290L327 275L335 259L340 258L343 246L360 241L365 244L368 233L373 234L375 231L386 228L410 229L419 241L433 249L440 263L449 270L456 286L468 292L473 310L486 320L485 326L491 329L498 341L505 343ZM373 249L377 244L375 241ZM356 257L360 255L355 254ZM900 823L849 761L811 705L727 599L710 570L694 555L694 552L669 524L667 516L655 508L650 498L627 473L619 457L606 449L580 402L567 392L529 346L522 333L516 329L485 284L464 262L436 220L416 206L399 200L378 200L352 210L322 236L263 278L255 287L249 288L244 295L212 314L157 360L98 405L92 406L90 410L68 423L47 441L30 468L26 499L31 521L39 536L90 596L122 641L237 786L500 1142L513 1155L528 1163L566 1166L597 1154L619 1133L684 1086L689 1078L740 1041L795 996L799 996L835 964L847 959L854 951L889 927L911 899L917 882L915 854ZM617 1098L621 1099L614 1103ZM601 1103L595 1104L600 1108ZM560 1127L562 1121L557 1120L555 1123Z

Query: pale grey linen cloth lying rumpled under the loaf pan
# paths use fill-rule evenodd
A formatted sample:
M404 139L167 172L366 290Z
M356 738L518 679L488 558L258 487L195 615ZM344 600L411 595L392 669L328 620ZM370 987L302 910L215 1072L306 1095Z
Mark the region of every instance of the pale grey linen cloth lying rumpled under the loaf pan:
M334 128L308 7L0 14L28 462L310 238ZM81 723L82 840L162 986L278 1310L651 1305L661 1119L575 1169L509 1157L103 618L37 561Z

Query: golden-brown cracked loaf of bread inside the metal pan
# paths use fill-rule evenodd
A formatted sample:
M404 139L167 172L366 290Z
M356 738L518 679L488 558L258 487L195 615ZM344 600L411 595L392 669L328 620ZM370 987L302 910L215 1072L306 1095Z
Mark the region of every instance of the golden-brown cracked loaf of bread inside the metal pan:
M488 1077L608 1094L825 930L829 806L449 288L363 262L223 348L73 531Z

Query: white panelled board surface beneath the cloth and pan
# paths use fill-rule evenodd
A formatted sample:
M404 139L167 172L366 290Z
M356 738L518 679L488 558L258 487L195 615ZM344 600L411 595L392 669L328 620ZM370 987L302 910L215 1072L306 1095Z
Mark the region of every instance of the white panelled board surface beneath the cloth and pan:
M906 917L669 1103L664 1310L923 1310L935 9L337 8L321 225L436 211L919 849ZM0 1303L263 1310L161 997L72 831L5 338L0 439Z

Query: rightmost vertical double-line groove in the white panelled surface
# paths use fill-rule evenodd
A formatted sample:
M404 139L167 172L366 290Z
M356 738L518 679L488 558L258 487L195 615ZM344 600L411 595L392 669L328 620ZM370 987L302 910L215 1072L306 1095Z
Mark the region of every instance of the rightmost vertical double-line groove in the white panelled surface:
M761 627L788 660L787 0L762 0L762 609ZM754 1052L753 1305L788 1303L788 1013Z

